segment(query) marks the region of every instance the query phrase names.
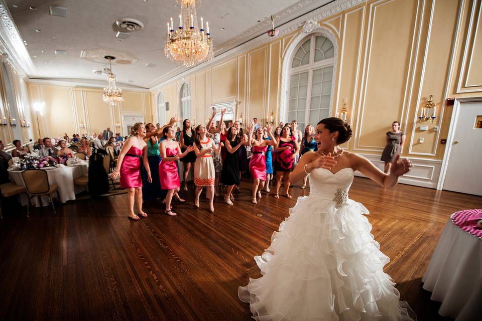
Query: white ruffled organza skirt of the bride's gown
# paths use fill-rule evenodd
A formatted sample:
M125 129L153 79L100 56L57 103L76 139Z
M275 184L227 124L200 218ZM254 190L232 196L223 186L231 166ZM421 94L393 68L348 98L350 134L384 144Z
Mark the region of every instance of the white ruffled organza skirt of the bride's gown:
M262 277L239 287L256 320L412 320L413 311L383 267L390 259L347 200L300 197L255 261ZM409 313L411 314L409 316ZM416 317L415 317L416 318Z

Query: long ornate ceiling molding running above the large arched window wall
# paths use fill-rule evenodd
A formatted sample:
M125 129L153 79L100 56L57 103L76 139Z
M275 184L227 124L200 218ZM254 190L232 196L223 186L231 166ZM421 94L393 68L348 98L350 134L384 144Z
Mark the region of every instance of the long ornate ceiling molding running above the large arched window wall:
M311 0L306 0L305 3L311 3ZM284 24L283 26L277 28L280 32L278 34L278 37L282 37L286 34L289 34L295 30L300 29L303 25L306 24L308 21L312 21L318 25L318 21L325 19L327 17L333 16L339 12L345 11L346 9L349 9L351 7L354 7L356 5L359 5L360 3L364 3L366 0L335 0L334 2L331 2L321 8L318 8L316 10L313 10L297 19L294 19L293 21ZM289 10L289 9L288 9ZM286 11L287 12L287 11ZM270 18L270 23L271 23L271 18ZM270 25L264 26L262 25L259 29L263 30L263 28L268 28ZM312 25L310 28L319 28ZM313 29L313 30L314 30ZM254 32L254 31L253 31ZM270 41L273 41L273 38L267 37L266 34L262 34L246 43L243 45L237 46L235 48L232 48L216 57L214 57L212 60L209 62L206 62L204 64L197 65L196 67L187 69L185 67L181 68L175 68L171 70L170 72L162 75L161 77L153 80L152 82L146 84L146 87L151 88L151 90L156 90L161 88L162 86L177 80L181 77L185 77L189 74L193 74L196 71L203 69L208 66L212 66L216 63L218 63L221 60L231 58L233 56L236 56L238 54L241 54L243 52L249 51L250 49L259 47L265 43L268 43Z

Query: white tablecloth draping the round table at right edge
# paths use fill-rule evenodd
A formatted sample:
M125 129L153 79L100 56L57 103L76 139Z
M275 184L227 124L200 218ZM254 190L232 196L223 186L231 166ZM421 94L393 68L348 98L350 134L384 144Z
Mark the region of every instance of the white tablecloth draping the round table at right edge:
M438 313L456 321L482 319L482 239L449 220L422 278Z

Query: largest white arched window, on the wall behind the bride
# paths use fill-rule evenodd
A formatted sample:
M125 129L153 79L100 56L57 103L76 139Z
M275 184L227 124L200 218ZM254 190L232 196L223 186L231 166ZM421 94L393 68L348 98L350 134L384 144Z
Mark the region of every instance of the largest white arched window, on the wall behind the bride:
M297 120L301 131L331 113L334 48L321 34L303 39L291 61L288 121Z

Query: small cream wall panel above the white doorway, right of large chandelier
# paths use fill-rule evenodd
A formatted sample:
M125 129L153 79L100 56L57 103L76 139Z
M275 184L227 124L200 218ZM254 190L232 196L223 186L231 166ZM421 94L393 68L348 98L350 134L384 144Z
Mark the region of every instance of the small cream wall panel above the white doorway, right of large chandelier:
M236 97L237 60L233 59L212 68L212 101L224 102Z

